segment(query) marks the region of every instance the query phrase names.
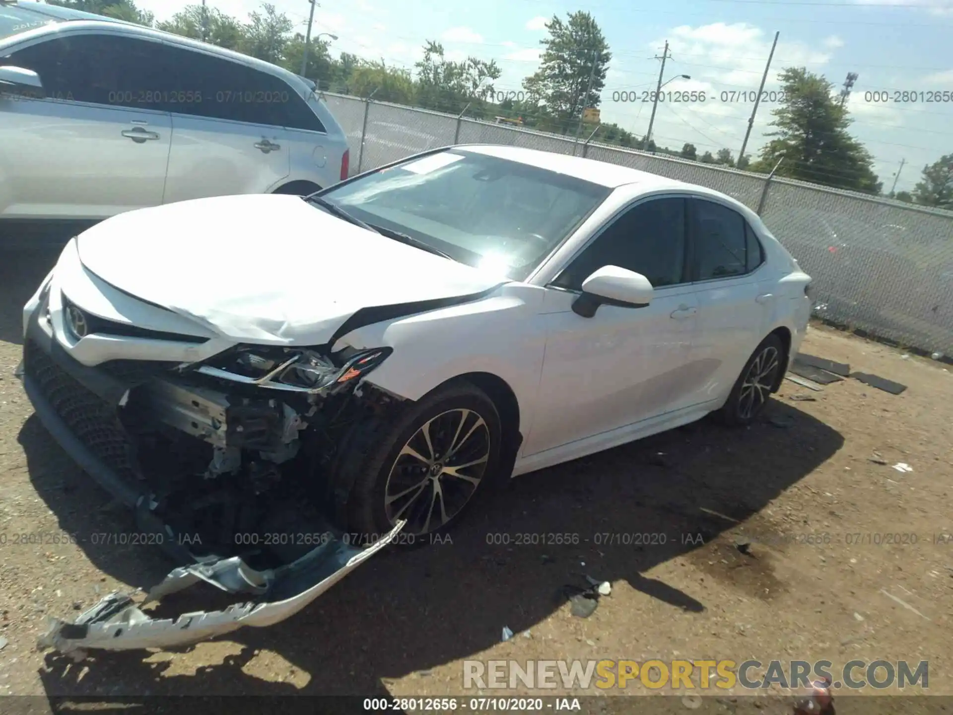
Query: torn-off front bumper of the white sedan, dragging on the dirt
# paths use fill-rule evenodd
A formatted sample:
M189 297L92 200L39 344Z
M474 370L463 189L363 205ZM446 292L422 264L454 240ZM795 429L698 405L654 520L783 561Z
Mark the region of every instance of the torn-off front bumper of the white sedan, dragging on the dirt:
M278 623L314 601L400 532L403 521L362 549L346 543L329 528L316 540L314 549L269 570L255 570L239 557L193 556L172 527L152 513L149 485L137 476L132 444L118 419L118 409L137 381L134 366L113 372L76 362L53 337L52 327L41 313L42 305L27 320L24 359L17 371L37 417L93 480L134 509L141 531L154 534L157 538L152 541L186 564L152 588L141 605L198 582L243 597L223 610L152 619L131 596L112 593L73 623L52 619L50 629L38 641L41 648L82 657L87 649L192 644L245 625Z

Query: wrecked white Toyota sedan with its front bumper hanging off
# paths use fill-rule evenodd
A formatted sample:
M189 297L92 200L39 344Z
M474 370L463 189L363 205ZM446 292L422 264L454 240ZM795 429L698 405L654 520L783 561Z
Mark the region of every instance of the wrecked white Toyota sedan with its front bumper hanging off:
M246 601L184 628L113 594L45 643L274 623L384 544L432 541L498 478L711 412L747 424L809 286L724 194L514 147L114 216L30 298L20 374L184 563L153 598L201 580Z

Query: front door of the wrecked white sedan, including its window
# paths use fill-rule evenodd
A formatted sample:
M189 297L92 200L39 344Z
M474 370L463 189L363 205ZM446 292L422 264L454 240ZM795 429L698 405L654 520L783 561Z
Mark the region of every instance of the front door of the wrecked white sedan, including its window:
M539 316L546 352L524 456L690 403L698 305L685 278L685 211L681 197L628 208L547 287ZM641 308L601 305L593 317L574 313L582 281L606 265L648 277L656 289L652 302Z

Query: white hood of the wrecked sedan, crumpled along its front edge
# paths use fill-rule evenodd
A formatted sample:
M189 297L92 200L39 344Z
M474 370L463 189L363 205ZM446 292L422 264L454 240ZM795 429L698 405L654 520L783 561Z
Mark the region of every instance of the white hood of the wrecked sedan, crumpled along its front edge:
M281 194L132 211L93 226L77 245L83 264L119 290L259 343L320 344L361 308L507 282Z

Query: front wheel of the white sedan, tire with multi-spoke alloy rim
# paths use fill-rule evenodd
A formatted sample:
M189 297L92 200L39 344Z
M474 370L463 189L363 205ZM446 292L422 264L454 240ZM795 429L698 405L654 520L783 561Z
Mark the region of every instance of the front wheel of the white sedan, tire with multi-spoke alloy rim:
M397 543L431 542L497 477L502 437L497 407L468 382L438 388L396 419L361 424L355 431L341 445L332 480L353 484L345 528L359 539L383 534L403 518L407 524Z

